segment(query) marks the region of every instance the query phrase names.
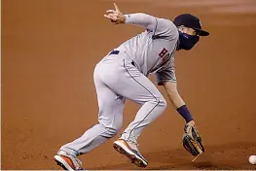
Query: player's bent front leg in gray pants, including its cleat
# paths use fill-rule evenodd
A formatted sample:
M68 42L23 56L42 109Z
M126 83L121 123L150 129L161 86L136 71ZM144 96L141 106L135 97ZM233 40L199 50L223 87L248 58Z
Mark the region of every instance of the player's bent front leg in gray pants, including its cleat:
M158 88L141 74L129 59L124 59L122 62L115 67L109 67L109 71L117 70L117 72L101 72L101 78L111 89L140 104L141 108L122 134L123 140L116 141L114 147L122 154L126 154L136 165L145 167L147 161L139 154L136 139L148 124L163 114L166 102ZM115 80L108 78L115 78Z

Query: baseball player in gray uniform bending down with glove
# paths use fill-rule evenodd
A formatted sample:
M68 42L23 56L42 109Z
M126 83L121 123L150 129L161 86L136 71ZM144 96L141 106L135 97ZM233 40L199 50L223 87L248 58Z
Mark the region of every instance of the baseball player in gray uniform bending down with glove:
M98 100L98 123L80 138L60 148L55 161L65 170L82 169L77 158L87 154L116 135L122 127L126 99L139 104L131 121L113 147L132 163L146 167L148 161L139 153L137 138L142 130L160 117L166 101L159 89L148 79L154 73L158 85L164 85L168 99L185 120L183 146L195 156L204 152L195 121L180 97L174 69L174 52L191 50L200 36L209 33L201 29L198 17L184 14L174 21L142 13L123 15L116 4L104 17L115 24L133 24L145 31L110 51L94 69L93 80Z

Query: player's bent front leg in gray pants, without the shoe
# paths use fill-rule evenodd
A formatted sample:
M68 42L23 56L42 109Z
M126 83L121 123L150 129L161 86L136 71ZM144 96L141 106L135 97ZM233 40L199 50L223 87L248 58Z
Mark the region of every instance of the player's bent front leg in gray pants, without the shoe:
M163 114L166 101L159 89L129 59L123 60L121 69L115 75L115 81L109 80L107 75L101 78L118 94L141 105L135 119L122 134L123 138L136 141L143 128Z

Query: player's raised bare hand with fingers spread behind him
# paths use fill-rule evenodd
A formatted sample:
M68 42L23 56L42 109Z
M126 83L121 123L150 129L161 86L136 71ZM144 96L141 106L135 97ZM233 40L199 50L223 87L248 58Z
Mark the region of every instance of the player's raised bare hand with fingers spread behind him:
M104 17L108 18L109 20L111 20L111 22L114 22L116 24L125 23L126 17L121 13L116 3L114 3L114 6L115 10L108 10L107 13L109 14L104 15Z

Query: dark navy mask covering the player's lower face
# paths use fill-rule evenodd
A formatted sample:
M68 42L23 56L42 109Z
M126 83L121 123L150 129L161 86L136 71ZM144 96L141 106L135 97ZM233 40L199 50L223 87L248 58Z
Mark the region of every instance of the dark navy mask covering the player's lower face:
M177 50L191 50L200 41L200 36L192 36L179 31L179 46Z

